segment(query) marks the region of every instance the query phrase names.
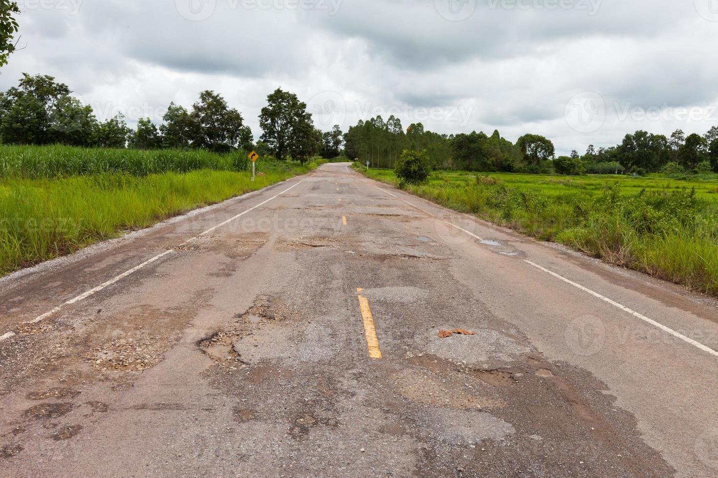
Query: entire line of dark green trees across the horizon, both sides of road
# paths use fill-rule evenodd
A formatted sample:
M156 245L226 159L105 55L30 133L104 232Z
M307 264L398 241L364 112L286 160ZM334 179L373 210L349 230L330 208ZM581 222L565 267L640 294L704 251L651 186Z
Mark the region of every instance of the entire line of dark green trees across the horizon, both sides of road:
M47 75L23 75L17 87L0 93L0 140L6 144L75 145L98 148L188 149L215 152L255 149L261 156L292 158L302 163L314 155L368 161L392 168L403 150L426 150L434 168L561 174L718 172L718 126L705 135L676 130L670 138L645 131L628 134L620 145L594 148L583 155L556 157L554 143L526 134L516 143L498 130L442 135L414 123L404 130L393 115L360 120L342 133L335 125L322 133L314 128L307 105L297 95L277 89L267 96L259 124L261 138L253 143L250 128L235 108L207 90L190 110L170 103L163 123L140 118L135 130L123 115L95 118L92 107L71 95L69 87Z

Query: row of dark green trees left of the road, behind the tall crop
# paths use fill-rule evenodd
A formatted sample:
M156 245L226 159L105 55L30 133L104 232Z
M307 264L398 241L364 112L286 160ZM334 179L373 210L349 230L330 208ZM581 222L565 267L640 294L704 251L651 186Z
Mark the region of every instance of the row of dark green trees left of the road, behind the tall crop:
M327 158L340 154L339 127L322 133L314 128L307 105L297 95L277 89L267 97L259 123L261 138L253 141L242 114L230 107L216 92L200 92L188 110L169 104L161 125L139 118L137 127L128 127L118 113L98 120L90 105L71 95L67 85L48 75L23 74L17 87L0 93L0 140L6 144L63 144L98 148L203 148L218 153L251 150L280 159L306 162L322 153Z

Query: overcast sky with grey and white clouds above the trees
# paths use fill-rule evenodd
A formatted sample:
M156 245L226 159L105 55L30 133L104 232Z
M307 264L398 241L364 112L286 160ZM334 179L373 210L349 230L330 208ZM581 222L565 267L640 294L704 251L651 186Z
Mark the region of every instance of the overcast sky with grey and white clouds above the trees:
M23 0L1 70L65 82L98 118L157 122L220 92L253 133L276 87L317 127L394 114L439 133L546 135L557 153L718 124L718 0Z

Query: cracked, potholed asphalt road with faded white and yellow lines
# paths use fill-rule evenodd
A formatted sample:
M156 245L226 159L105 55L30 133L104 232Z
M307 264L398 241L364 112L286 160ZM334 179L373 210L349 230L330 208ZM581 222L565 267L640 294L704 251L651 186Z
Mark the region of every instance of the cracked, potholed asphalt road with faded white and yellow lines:
M706 297L326 164L2 279L0 475L717 476L715 350Z

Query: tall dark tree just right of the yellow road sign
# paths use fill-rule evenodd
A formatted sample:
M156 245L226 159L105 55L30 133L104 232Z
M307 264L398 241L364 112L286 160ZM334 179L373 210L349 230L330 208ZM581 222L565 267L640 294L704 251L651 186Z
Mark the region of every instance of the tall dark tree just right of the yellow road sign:
M267 95L267 105L259 115L259 125L263 131L261 140L269 145L276 158L284 159L289 150L297 150L294 141L307 140L304 135L309 128L302 124L307 115L311 121L312 115L307 113L307 103L299 101L294 93L277 88ZM311 134L314 135L313 130Z

